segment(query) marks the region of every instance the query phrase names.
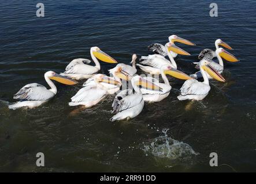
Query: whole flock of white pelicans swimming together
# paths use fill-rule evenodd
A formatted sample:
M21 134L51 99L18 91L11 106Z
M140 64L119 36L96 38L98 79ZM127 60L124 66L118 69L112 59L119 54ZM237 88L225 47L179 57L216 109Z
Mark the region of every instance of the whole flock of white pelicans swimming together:
M224 70L222 59L228 62L239 61L222 47L232 48L224 41L217 39L215 41L216 51L203 49L198 56L200 61L194 62L196 64L195 68L199 71L195 74L187 75L177 70L175 57L178 54L190 55L190 53L177 47L175 42L195 45L191 41L176 35L169 36L168 43L165 45L157 43L149 45L148 48L154 52L153 55L141 56L139 63L136 63L137 56L133 54L131 66L118 63L116 67L109 70L110 76L98 74L101 70L99 60L106 63L117 63L117 61L98 47L91 47L91 58L95 66L89 65L91 60L79 58L72 60L61 74L47 71L44 74L44 79L50 89L38 83L25 85L13 97L20 101L9 105L9 109L35 108L49 101L57 94L57 87L52 80L65 85L76 85L77 81L87 79L83 87L71 98L69 106L80 106L83 109L90 108L97 105L107 95L115 94L121 90L114 98L112 113L115 115L110 118L110 121L129 119L138 116L142 112L144 102L159 102L168 97L172 86L170 86L166 75L185 81L180 88L180 95L177 97L179 100L191 99L199 101L205 98L210 91L209 79L225 82L224 77L221 75ZM213 60L214 57L217 57L218 62ZM161 75L164 83L159 82L157 78L152 76L137 75L136 66L148 74ZM203 81L199 82L197 80L199 78L203 78ZM127 83L131 84L132 87L128 85L127 88Z

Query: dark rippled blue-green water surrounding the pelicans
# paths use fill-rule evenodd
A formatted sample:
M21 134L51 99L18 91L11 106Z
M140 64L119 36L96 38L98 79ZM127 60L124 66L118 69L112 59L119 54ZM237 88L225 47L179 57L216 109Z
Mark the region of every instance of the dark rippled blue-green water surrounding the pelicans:
M215 1L218 17L209 16L212 1L42 2L44 18L36 17L34 1L0 5L0 171L256 171L255 1ZM191 53L176 59L187 74L217 38L234 48L240 62L225 62L226 82L211 82L201 102L178 101L183 81L169 78L169 97L145 105L129 121L109 121L113 96L71 116L76 108L68 102L83 82L57 84L58 94L37 109L6 106L27 83L47 85L44 72L62 72L77 57L90 59L92 46L128 63L132 53L147 55L147 45L164 44L171 34L196 43L179 44ZM101 66L103 74L114 67ZM169 129L166 135L163 129ZM161 150L143 150L161 136L198 154L163 158ZM43 168L35 164L38 152L45 155ZM220 167L209 166L210 152L217 152Z

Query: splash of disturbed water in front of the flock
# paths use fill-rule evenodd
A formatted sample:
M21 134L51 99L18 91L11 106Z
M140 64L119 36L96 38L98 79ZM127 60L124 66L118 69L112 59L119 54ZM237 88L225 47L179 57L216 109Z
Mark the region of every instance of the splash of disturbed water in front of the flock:
M143 151L146 155L151 154L159 159L167 159L170 164L177 165L181 163L193 163L196 155L192 147L182 141L178 141L168 137L167 132L169 129L163 129L163 136L156 137L150 144L144 145ZM173 162L172 162L173 161Z

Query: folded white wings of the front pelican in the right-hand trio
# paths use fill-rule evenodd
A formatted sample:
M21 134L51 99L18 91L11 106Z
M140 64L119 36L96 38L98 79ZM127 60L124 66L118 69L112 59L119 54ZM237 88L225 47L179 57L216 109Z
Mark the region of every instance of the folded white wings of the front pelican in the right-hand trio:
M210 86L196 79L188 79L180 89L181 95L205 95L209 93Z

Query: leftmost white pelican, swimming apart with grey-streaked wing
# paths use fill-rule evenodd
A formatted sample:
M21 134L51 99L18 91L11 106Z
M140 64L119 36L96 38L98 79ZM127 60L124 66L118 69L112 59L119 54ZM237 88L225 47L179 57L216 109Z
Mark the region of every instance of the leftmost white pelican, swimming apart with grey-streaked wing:
M65 85L75 85L77 83L76 81L66 78L65 76L56 74L53 71L47 71L44 74L44 79L51 89L47 90L46 87L39 85L38 83L25 85L18 91L18 93L14 94L13 97L14 99L20 99L21 101L16 102L13 105L9 105L9 109L17 109L22 107L35 108L49 101L54 97L55 94L57 94L57 87L51 80L64 83Z

